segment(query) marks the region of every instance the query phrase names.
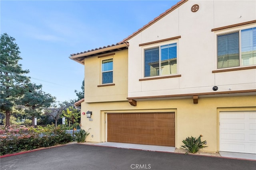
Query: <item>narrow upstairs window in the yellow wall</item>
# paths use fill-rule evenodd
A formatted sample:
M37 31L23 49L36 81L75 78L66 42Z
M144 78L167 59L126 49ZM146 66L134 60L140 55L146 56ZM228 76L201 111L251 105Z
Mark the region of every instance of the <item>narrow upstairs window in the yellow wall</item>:
M113 83L113 59L102 61L102 84Z

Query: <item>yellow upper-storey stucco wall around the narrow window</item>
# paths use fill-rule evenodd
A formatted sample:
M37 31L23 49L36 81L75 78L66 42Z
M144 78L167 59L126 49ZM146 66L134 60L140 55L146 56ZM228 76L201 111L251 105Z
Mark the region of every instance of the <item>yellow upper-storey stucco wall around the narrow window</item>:
M113 83L114 86L101 85L102 60L113 59ZM98 58L88 57L84 59L85 102L109 102L126 101L128 89L128 50L116 51L115 55Z

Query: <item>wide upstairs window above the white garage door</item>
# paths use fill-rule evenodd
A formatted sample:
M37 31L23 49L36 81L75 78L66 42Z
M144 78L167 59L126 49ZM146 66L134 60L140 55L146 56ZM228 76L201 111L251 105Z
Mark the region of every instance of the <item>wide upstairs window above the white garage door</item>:
M217 36L218 66L256 64L256 27Z

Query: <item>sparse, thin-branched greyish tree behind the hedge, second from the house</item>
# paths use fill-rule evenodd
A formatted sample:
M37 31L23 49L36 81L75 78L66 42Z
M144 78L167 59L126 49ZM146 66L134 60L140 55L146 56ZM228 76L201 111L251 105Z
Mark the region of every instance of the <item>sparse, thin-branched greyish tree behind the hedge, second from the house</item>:
M53 107L46 109L44 112L46 115L51 116L55 120L55 127L57 127L57 121L62 117L62 111L65 111L68 107L73 106L74 103L64 101L62 103L54 104Z

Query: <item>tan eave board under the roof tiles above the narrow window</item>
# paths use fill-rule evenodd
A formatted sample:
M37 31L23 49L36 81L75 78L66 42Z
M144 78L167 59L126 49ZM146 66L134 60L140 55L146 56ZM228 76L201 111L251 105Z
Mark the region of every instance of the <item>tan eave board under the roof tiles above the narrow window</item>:
M115 49L121 49L123 47L128 47L128 46L129 46L129 43L126 42L126 43L122 43L119 45L114 45L114 46L110 46L110 47L106 47L106 48L102 48L102 49L98 49L98 50L94 50L94 51L89 51L86 53L73 55L73 56L70 56L69 58L84 65L84 63L82 63L82 61L79 61L78 58L81 59L81 58L91 57L91 55L98 55L100 53L104 53L104 52L115 50Z

